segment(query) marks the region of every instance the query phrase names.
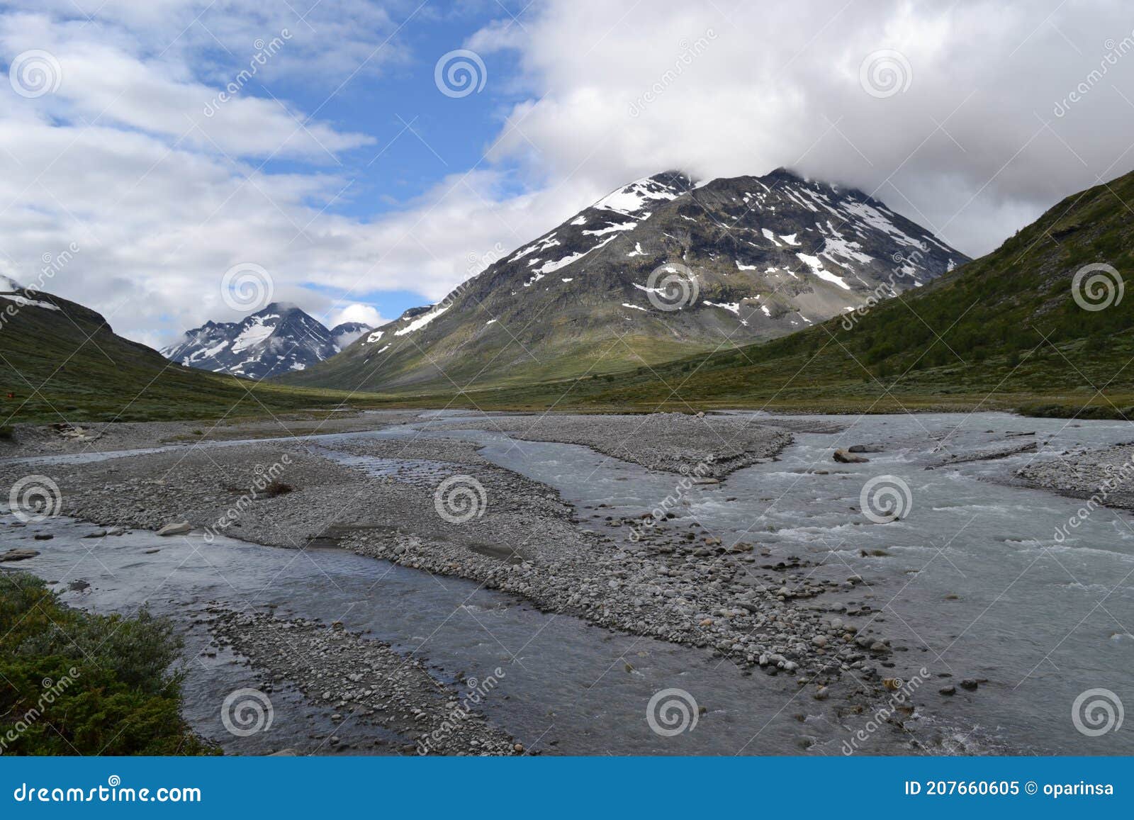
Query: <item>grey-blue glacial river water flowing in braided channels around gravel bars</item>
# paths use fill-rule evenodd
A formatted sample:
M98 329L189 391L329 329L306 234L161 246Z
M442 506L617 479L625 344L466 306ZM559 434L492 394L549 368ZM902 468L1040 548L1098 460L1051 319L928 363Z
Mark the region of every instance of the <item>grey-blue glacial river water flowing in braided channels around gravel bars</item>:
M860 611L854 620L871 622L903 646L894 656L895 675L908 679L922 667L930 675L914 698L919 710L911 732L869 732L862 752L911 753L921 746L929 753L1134 753L1131 725L1092 736L1073 719L1073 703L1091 690L1134 703L1134 517L1099 509L1057 541L1057 527L1081 502L1007 483L1031 459L1132 440L1129 425L1007 414L819 420L848 428L795 433L778 460L683 493L680 515L726 543L739 539L776 559L805 558L818 565L819 577L865 580L820 602L845 603ZM1034 437L1008 436L1032 431ZM342 438L418 433L404 425L314 437L312 443L333 453ZM613 538L625 538L627 529L602 526L607 515L637 516L671 494L677 481L573 445L479 431L425 434L476 440L486 458L556 488L584 522L594 521L583 526ZM1031 440L1039 453L938 466L949 454ZM831 460L835 448L866 442L885 450L870 454L866 464ZM231 443L237 442L212 446ZM49 471L54 460L62 459L35 463ZM399 466L389 459L354 463L376 472ZM424 463L403 466L430 470ZM908 488L905 515L892 523L874 524L858 512L864 484L878 476ZM329 710L307 704L286 682L272 684L276 715L269 732L229 735L220 721L225 695L261 687L265 678L210 648L198 623L210 601L342 620L416 653L446 682L500 667L506 674L484 711L526 747L544 753L840 754L869 721L869 716L832 719L830 703L798 695L790 676L743 673L709 651L540 612L458 578L331 549L297 552L230 539L205 544L196 536L160 539L143 531L82 538L94 529L60 518L0 531L10 546L42 550L11 566L59 582L68 603L128 612L146 602L175 617L187 641L186 715L232 753L281 747L359 753L378 735L336 727ZM34 532L54 538L33 543ZM153 548L160 551L146 552ZM90 587L70 590L71 581ZM982 683L975 692L958 686L953 696L938 694L964 678ZM669 687L688 692L703 713L692 732L662 737L651 730L645 704ZM340 741L335 746L328 743L332 735Z

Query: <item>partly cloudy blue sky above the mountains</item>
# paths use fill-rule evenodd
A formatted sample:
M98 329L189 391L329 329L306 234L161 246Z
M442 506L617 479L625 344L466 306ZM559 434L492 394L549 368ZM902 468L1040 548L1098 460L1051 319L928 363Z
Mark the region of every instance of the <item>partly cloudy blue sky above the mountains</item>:
M0 65L0 274L153 346L396 319L668 169L973 256L1134 169L1124 0L17 0Z

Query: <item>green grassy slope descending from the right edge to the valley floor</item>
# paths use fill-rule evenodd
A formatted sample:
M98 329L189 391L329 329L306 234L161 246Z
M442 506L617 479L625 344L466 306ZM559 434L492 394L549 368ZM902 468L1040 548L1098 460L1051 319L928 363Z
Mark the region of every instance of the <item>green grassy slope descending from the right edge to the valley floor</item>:
M930 285L764 344L565 383L483 408L1016 411L1134 419L1134 172L1066 197ZM415 404L445 405L440 391Z

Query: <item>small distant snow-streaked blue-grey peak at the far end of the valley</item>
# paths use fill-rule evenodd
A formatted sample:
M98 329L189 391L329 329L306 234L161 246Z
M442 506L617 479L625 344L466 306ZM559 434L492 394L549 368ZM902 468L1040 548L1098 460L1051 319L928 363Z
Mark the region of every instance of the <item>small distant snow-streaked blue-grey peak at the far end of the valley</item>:
M265 379L330 358L367 330L361 322L328 330L295 305L273 302L239 322L205 322L161 353L191 367Z

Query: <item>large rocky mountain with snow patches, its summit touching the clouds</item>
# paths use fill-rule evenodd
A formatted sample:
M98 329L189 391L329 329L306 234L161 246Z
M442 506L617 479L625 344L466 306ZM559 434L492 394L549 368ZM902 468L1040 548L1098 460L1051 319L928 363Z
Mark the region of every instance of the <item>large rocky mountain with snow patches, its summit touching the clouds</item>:
M668 171L285 381L421 391L612 372L802 330L966 261L856 189Z

